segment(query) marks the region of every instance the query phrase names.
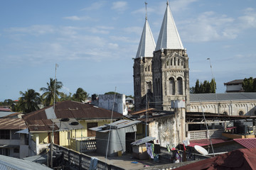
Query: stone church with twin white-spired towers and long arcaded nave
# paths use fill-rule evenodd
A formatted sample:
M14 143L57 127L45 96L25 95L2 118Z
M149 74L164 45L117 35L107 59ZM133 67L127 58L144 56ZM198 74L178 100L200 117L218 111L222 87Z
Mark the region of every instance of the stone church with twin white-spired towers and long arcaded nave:
M181 101L187 112L256 115L256 93L189 93L188 55L168 2L156 44L146 17L133 68L137 111L146 107L174 111L175 101Z

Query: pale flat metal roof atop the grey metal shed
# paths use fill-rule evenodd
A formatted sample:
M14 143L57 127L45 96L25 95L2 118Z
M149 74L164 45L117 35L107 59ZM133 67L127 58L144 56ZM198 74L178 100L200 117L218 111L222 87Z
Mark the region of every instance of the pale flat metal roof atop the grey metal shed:
M90 128L90 130L94 130L97 132L109 132L110 131L110 126L111 126L111 130L114 129L120 129L120 128L125 128L127 126L130 125L135 125L137 123L140 123L139 120L118 120L117 122L114 123L110 123L108 125L102 125L99 127L95 127L95 128Z

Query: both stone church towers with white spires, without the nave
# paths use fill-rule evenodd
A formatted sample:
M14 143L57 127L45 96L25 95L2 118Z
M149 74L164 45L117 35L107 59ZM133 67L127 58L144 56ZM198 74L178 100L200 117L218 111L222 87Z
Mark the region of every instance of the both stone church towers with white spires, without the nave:
M154 46L154 38L146 18L134 59L135 109L151 105L171 111L171 103L174 101L184 101L189 106L188 55L168 2L159 38Z

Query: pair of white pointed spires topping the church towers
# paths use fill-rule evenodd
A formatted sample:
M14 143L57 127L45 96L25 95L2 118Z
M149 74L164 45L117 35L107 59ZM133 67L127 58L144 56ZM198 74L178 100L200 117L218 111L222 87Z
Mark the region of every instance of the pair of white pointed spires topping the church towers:
M147 4L145 2L145 4ZM164 13L164 19L161 24L161 30L159 33L159 38L155 45L154 37L151 33L149 23L146 20L144 23L144 28L142 31L142 37L139 42L139 48L137 51L136 58L138 57L153 57L153 52L161 49L170 49L170 50L184 50L184 47L181 42L181 38L178 34L174 18L171 15L171 10L169 3L167 1L166 11Z

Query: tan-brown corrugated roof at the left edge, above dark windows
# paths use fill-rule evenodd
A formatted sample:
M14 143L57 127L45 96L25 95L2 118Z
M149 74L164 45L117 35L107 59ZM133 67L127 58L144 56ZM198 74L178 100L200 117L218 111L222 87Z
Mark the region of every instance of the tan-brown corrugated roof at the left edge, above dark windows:
M0 129L1 130L23 130L26 129L26 123L20 118L3 118L0 119Z

